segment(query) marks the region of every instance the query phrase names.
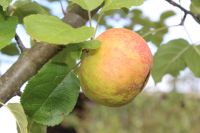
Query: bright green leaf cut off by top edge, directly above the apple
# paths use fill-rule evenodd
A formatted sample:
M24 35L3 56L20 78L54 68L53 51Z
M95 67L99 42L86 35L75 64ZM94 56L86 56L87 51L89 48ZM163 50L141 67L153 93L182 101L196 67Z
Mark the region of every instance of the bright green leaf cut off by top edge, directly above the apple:
M120 8L130 8L132 6L139 6L143 2L144 0L105 0L105 5L102 11L105 12Z

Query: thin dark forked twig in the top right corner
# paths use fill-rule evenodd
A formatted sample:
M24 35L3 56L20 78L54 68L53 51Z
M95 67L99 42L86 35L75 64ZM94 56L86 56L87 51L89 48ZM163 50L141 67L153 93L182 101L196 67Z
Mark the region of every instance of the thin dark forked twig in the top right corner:
M167 1L169 4L171 4L171 5L175 6L175 7L178 7L180 10L182 10L185 13L185 15L184 15L184 17L183 17L183 19L181 21L182 24L184 23L185 18L186 18L186 16L188 14L191 15L196 20L196 22L200 24L200 18L198 17L198 15L196 15L196 14L192 13L191 11L185 9L181 5L179 5L176 2L174 2L173 0L165 0L165 1Z

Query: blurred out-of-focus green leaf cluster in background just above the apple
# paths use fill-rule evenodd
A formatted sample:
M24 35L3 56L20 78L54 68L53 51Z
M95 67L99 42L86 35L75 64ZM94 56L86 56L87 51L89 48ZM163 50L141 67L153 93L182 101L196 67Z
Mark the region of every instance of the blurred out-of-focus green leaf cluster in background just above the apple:
M131 21L131 23L125 25L125 28L136 29L135 32L143 36L146 41L152 42L157 47L161 45L164 35L168 33L168 26L165 21L169 17L175 15L173 11L166 11L160 15L158 21L152 21L149 16L144 16L143 12L139 9L132 9L130 11L126 9L114 10L104 14L104 19L100 21L101 26L106 28L115 27L107 21L107 18L115 19L116 14L119 15L119 18L116 19L116 21L119 19ZM139 30L137 30L138 27Z

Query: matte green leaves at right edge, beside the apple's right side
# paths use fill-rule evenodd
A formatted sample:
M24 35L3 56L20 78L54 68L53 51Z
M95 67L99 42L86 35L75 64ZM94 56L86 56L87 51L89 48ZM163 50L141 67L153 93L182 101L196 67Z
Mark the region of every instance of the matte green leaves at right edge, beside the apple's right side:
M176 77L180 70L188 67L195 76L200 77L199 58L200 45L190 45L184 39L169 41L154 56L152 76L155 82L159 82L166 73Z

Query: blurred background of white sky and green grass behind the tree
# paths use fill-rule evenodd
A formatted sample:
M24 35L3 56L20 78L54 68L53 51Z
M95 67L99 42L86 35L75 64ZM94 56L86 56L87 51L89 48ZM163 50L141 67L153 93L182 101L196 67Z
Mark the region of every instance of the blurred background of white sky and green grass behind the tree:
M63 17L59 1L34 1L49 8L55 16ZM190 0L174 1L189 10ZM62 4L66 7L67 1L62 0ZM200 25L191 16L187 16L184 26L174 26L181 22L183 15L180 9L165 0L146 0L143 5L134 7L129 12L125 9L108 12L100 22L97 36L112 27L126 27L140 35L168 27L145 36L153 54L157 46L176 38L200 44ZM96 25L96 17L92 25ZM17 33L26 47L30 47L30 38L21 25L18 26ZM6 47L0 51L0 75L17 60L17 54L14 47ZM19 97L14 97L10 102L19 102ZM82 95L80 102L62 123L62 127L68 128L68 131L63 130L66 133L200 132L200 78L195 77L188 68L182 70L176 78L165 75L157 84L150 77L144 91L133 102L120 108L96 105ZM0 129L8 133L17 132L14 118L5 108L0 109Z

